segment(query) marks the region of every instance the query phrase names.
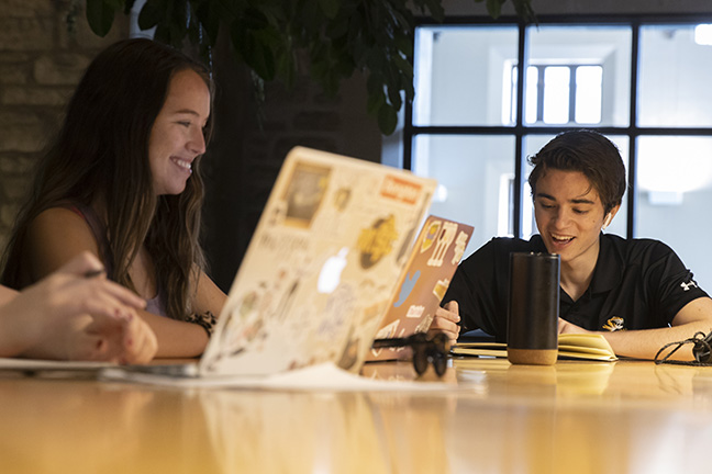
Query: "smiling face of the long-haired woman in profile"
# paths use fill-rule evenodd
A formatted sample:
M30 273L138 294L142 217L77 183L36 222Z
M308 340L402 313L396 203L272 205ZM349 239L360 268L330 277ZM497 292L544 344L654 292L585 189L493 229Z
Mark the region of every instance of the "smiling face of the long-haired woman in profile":
M205 153L203 127L210 116L210 91L192 69L174 75L151 129L148 160L156 195L180 194L193 160Z

